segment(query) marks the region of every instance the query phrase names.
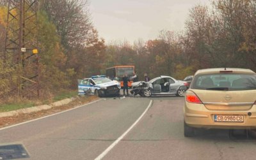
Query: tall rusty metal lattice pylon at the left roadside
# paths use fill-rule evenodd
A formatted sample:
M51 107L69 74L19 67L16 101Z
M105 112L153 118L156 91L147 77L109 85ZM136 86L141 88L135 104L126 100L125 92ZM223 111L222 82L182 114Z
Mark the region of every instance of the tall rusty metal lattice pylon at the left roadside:
M40 96L39 55L37 54L38 0L9 0L4 62L17 71L17 96Z

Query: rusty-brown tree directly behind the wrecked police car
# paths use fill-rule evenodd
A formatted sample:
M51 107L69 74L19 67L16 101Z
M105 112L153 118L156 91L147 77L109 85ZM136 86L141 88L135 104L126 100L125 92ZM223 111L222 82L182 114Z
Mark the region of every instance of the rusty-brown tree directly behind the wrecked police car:
M104 40L99 38L96 29L90 33L86 46L80 45L68 54L67 68L73 68L76 75L72 77L73 84L78 78L86 78L92 75L100 75L104 69L106 47ZM73 87L77 87L73 85Z

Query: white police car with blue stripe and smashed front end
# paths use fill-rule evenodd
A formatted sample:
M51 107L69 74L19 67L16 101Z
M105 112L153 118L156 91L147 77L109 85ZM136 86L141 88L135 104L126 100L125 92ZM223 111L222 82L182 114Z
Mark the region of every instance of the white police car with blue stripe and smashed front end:
M99 97L113 95L116 96L120 92L120 83L116 80L110 80L105 75L92 76L78 80L79 95L95 95Z

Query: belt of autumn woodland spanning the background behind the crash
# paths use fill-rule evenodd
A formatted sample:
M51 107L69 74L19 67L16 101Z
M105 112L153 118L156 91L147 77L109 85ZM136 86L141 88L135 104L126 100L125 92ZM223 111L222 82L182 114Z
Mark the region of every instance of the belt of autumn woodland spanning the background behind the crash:
M0 53L4 52L6 2L0 7ZM161 17L159 17L161 18ZM154 40L106 43L93 27L88 1L42 0L38 11L41 89L44 95L76 89L77 78L105 74L105 68L134 65L140 80L177 79L202 68L256 71L256 2L218 0L189 10L180 32L161 31ZM0 54L1 55L1 54ZM3 61L0 61L2 68ZM10 91L13 69L0 70L0 94Z

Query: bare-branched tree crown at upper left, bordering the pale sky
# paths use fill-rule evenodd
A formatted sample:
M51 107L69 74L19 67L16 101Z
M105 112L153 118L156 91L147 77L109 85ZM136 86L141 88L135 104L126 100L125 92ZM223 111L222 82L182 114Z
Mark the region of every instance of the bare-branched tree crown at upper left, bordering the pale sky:
M43 0L40 6L56 25L66 49L86 43L92 30L88 0Z

